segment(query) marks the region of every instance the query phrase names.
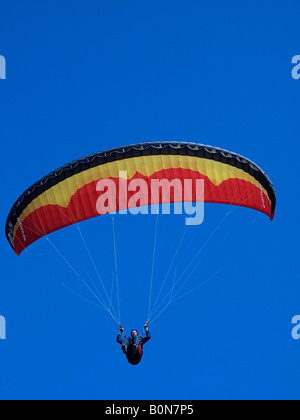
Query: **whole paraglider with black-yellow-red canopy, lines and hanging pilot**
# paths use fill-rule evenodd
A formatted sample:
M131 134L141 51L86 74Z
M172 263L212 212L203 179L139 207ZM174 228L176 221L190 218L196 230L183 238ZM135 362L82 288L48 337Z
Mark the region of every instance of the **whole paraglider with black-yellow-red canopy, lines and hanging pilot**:
M167 193L163 191L164 186ZM201 192L200 187L203 187ZM79 226L80 222L99 215L126 214L128 209L183 202L247 207L266 214L271 220L276 210L271 180L249 159L197 143L140 143L76 160L36 182L12 207L6 222L6 237L13 251L20 255L38 239L70 225ZM201 217L195 219L201 220ZM85 241L84 245L87 248ZM88 253L91 257L89 250ZM198 255L199 252L196 257ZM93 265L97 271L94 261ZM73 272L80 278L74 269ZM99 279L102 283L100 276ZM175 285L174 282L166 295L171 296L170 302ZM102 286L104 288L103 283ZM95 290L89 288L89 291L119 325L120 311L119 314L114 311L107 291L108 304L96 296ZM149 299L148 320L157 310L158 297L151 313ZM143 345L151 338L148 323L144 329L145 338L139 337L136 330L132 330L131 337L122 338L124 330L120 327L117 341L133 365L140 363Z

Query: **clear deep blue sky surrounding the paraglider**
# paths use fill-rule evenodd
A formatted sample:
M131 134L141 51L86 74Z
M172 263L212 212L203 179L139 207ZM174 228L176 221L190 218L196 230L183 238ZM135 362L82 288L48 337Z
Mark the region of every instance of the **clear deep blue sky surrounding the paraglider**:
M52 1L5 3L0 15L2 236L1 399L299 398L300 82L297 1ZM260 165L278 196L274 222L236 209L205 247L196 292L151 327L143 362L130 366L108 314L45 240L16 257L4 235L18 196L50 171L87 154L142 141L198 141ZM172 267L183 272L227 212L206 206ZM121 315L147 317L156 219L116 216ZM184 232L161 216L157 294ZM110 216L82 224L110 290ZM51 241L97 281L74 227ZM172 285L172 283L170 283ZM114 298L116 305L116 299Z

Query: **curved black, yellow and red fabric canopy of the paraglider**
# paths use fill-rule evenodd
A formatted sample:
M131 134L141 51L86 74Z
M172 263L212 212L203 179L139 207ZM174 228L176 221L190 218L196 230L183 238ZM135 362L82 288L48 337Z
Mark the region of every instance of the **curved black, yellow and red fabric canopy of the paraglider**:
M111 149L74 161L44 177L17 200L6 223L7 239L17 255L39 238L58 229L99 216L97 184L109 179L120 185L143 179L204 181L206 203L258 210L274 218L276 195L268 176L253 162L226 150L196 143L145 143ZM123 180L124 181L124 180ZM130 206L117 202L114 210ZM197 199L192 191L191 200ZM170 202L174 202L174 197ZM161 196L158 204L162 203Z

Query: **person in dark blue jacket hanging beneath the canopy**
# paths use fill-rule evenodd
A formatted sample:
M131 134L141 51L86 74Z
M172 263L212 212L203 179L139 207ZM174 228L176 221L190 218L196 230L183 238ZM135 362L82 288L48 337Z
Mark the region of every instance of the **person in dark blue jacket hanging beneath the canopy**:
M138 365L143 357L143 346L147 341L150 340L151 334L148 328L148 321L144 326L144 331L146 331L146 337L143 337L143 334L139 337L137 330L131 331L131 337L124 336L122 339L122 334L124 333L124 328L120 325L120 333L117 337L117 342L121 344L123 353L126 355L127 360L132 365Z

